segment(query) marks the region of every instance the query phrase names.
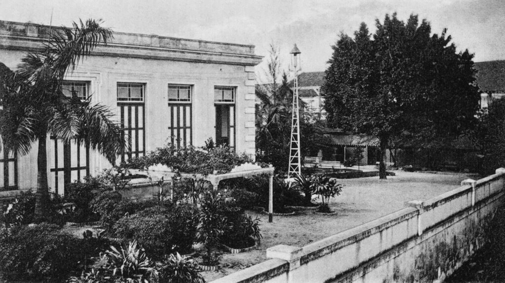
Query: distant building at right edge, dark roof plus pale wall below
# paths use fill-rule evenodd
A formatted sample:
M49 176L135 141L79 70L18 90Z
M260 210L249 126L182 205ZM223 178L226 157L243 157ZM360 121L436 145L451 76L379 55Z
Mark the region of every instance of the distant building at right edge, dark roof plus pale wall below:
M505 96L505 60L475 63L477 84L481 93L480 107L487 108L493 99Z

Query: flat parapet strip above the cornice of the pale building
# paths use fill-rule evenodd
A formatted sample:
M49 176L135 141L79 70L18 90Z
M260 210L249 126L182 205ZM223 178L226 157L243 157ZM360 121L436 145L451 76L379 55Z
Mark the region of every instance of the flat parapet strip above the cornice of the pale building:
M51 30L57 30L59 28L60 27L49 27L34 23L0 21L0 36L47 39ZM255 55L255 46L249 44L235 44L125 32L114 32L113 34L114 38L109 41L109 43L114 45L167 47L171 49L176 48Z

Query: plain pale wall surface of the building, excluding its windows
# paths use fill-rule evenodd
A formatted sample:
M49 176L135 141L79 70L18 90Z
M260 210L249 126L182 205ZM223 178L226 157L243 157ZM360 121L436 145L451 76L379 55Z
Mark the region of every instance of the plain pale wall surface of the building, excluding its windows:
M47 40L45 29L0 21L0 61L16 70L28 50L37 50ZM117 122L117 83L144 84L146 151L170 141L168 84L192 86L192 144L197 147L210 137L216 140L214 86L234 87L235 150L254 158L254 66L260 60L252 45L116 33L107 46L99 45L93 55L67 74L66 80L89 82L92 101L109 106ZM28 155L19 156L20 189L36 185L36 148L34 144ZM48 150L49 163L55 158L53 153ZM111 166L96 152L91 152L89 165L91 174Z

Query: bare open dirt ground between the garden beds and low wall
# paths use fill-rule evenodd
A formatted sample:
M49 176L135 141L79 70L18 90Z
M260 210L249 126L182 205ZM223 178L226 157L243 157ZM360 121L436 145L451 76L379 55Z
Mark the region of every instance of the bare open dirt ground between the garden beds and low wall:
M206 281L212 281L267 260L269 247L279 244L302 247L402 209L406 201L427 200L458 188L464 179L478 178L464 174L394 173L396 176L388 176L387 180L378 177L341 180L341 195L330 201L331 208L337 212L335 215L302 211L295 216L274 216L273 223L269 223L267 215L247 211L261 218L261 245L246 253L224 254L220 270L202 274Z

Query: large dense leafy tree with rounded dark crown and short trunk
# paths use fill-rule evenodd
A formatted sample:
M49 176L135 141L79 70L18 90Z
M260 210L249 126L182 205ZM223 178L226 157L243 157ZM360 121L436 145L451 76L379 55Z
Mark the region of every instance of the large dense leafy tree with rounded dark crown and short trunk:
M332 127L376 136L381 152L379 178L386 179L389 146L440 148L476 122L479 92L473 54L457 52L443 30L411 15L376 21L350 37L341 34L328 61L325 109Z

